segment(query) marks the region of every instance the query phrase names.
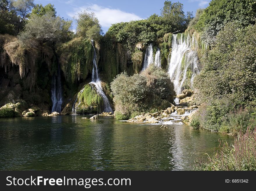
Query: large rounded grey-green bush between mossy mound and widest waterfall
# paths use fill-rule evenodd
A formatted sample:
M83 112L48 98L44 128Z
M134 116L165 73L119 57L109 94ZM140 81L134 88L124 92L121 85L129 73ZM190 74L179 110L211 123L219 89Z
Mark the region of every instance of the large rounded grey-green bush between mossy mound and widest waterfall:
M118 74L110 85L118 117L130 118L152 109L162 110L173 101L173 83L162 69L154 65L141 74Z

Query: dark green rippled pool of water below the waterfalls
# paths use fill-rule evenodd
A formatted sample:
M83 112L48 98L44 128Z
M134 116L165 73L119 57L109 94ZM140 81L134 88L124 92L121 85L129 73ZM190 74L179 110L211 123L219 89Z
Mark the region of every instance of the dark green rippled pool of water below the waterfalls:
M113 117L0 118L0 170L189 170L218 140L187 125L141 125Z

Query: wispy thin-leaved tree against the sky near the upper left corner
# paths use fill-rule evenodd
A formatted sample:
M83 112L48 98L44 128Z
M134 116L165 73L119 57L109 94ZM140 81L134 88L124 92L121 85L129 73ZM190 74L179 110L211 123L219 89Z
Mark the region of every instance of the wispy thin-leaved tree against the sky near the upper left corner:
M34 0L11 0L10 11L13 15L19 17L17 23L17 32L23 28L26 18L29 17L30 11L35 6Z

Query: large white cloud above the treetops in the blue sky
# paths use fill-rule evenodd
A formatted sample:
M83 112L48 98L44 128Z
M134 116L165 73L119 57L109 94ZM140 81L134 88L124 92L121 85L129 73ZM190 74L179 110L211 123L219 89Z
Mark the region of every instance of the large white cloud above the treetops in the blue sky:
M87 8L90 8L90 11L95 13L102 27L110 27L111 24L118 23L118 22L129 22L131 20L143 19L134 13L127 13L119 9L102 7L97 4L83 6L80 8L74 8L73 11L67 13L67 15L70 17L73 17L78 12L86 10Z

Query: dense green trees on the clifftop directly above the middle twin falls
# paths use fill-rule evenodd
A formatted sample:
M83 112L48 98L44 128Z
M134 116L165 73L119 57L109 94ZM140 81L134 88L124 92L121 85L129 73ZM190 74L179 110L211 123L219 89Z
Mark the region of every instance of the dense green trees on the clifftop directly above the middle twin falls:
M165 8L166 6L169 7ZM181 3L166 1L165 7L162 16L154 14L144 20L116 23L109 28L107 34L132 51L137 42L145 45L154 42L157 38L162 38L166 33L185 31L191 19L191 13L185 16Z

